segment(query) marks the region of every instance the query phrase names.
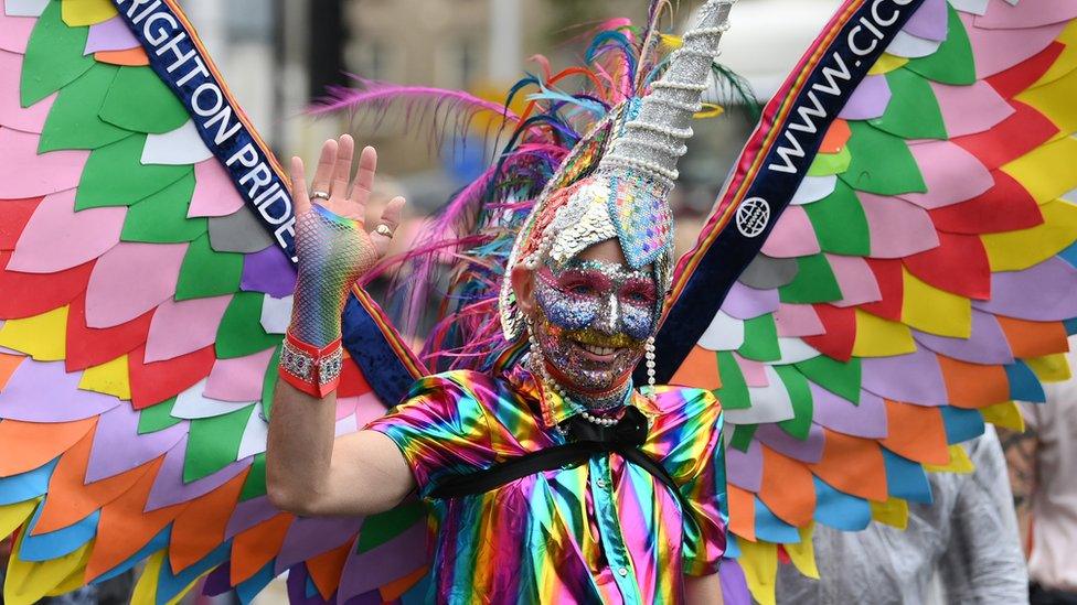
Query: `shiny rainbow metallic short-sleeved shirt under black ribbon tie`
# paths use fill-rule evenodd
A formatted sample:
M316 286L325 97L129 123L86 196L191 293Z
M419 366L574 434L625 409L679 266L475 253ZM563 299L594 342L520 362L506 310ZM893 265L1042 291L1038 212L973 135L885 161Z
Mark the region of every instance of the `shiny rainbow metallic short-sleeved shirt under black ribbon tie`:
M537 473L484 494L431 500L437 603L680 603L682 574L717 572L725 551L722 415L710 391L659 387L633 404L650 421L641 447L693 510L617 454ZM439 480L565 443L575 410L521 366L419 380L367 428L404 453L427 497Z

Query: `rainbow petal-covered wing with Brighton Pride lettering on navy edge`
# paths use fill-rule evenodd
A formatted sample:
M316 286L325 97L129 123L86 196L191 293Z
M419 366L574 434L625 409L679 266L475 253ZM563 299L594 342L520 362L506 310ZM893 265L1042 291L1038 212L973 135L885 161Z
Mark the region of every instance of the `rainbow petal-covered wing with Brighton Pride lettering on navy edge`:
M139 603L172 602L206 574L211 592L249 601L285 570L297 602L394 599L426 565L418 503L298 519L266 497L295 270L248 204L284 191L279 171L179 9L153 3L171 18L129 28L149 3L117 4L124 14L104 0L0 10L0 537L15 534L4 601L142 561ZM159 53L137 37L161 31L185 32L186 46ZM154 69L168 75L189 48L204 74L170 88ZM340 433L423 372L360 296Z

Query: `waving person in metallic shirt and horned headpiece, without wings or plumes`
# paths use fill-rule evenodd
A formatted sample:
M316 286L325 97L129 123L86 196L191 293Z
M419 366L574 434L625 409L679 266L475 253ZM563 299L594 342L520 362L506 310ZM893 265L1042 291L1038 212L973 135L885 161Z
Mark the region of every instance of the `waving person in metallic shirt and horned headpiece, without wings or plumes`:
M577 143L591 158L569 155L538 196L490 315L504 358L425 378L335 441L341 312L403 201L367 235L374 151L349 186L354 143L327 142L313 205L294 160L299 280L269 423L274 504L372 515L417 487L438 522L430 602L721 602L719 407L704 389L655 387L652 348L674 261L667 198L731 6L707 2L651 91L612 109Z

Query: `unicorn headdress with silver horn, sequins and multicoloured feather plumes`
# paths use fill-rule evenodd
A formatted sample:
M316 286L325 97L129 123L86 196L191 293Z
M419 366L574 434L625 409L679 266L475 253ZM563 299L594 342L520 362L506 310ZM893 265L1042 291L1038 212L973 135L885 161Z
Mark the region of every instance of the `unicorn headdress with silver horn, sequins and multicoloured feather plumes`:
M403 106L409 123L433 127L441 142L477 123L494 133L495 161L449 198L409 252L366 276L405 264L390 292L391 313L405 333L425 335L420 355L429 368L482 369L518 339L522 317L508 277L520 262L566 260L617 238L630 262L653 266L659 284L669 284L667 197L708 74L719 97L755 107L747 84L713 61L733 1L707 2L679 41L659 31L668 0L651 0L642 26L601 23L579 65L555 72L533 57L541 71L519 80L503 104L360 79L319 106L317 112L346 110L372 125Z

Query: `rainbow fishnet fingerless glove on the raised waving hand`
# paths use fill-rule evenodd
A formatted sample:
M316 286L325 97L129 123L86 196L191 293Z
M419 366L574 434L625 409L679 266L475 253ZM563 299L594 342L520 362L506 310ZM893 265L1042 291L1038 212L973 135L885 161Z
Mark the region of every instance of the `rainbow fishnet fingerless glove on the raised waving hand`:
M288 332L321 348L340 338L348 293L377 252L362 223L314 204L296 223L296 255L299 280Z

